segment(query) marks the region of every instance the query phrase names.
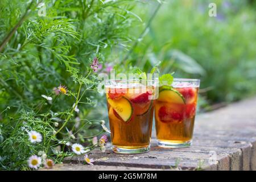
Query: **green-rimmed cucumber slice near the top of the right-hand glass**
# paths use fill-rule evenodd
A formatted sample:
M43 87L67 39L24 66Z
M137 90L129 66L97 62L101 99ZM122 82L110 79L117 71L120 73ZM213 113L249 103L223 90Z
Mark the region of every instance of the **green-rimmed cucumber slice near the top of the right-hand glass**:
M186 104L185 98L182 96L182 94L172 88L160 90L158 101Z

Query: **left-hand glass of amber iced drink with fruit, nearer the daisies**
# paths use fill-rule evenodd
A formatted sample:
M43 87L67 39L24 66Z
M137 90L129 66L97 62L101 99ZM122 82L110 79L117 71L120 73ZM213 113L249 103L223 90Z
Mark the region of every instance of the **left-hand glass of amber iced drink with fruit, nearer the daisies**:
M108 81L105 85L113 151L136 154L150 149L155 87L140 81Z

